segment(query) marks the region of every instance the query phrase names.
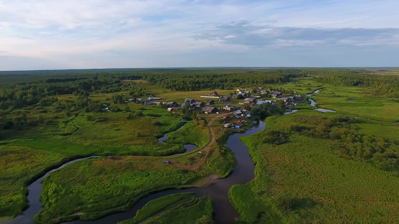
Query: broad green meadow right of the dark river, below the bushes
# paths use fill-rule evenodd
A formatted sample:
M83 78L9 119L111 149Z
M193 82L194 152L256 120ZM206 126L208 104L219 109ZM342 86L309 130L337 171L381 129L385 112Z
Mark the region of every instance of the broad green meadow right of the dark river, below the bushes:
M288 130L290 124L317 124L325 117L316 111L266 119L266 129ZM330 140L291 133L288 143L262 143L264 132L243 137L256 163L255 179L234 186L230 198L240 220L253 223L398 223L399 179L361 160L338 157ZM288 195L291 210L279 206ZM251 198L251 203L242 202Z

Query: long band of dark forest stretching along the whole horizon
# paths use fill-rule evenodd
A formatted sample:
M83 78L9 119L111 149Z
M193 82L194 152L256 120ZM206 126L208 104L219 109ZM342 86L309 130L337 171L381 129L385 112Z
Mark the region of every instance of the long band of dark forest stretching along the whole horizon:
M173 90L233 88L241 85L282 84L297 77L316 77L321 83L371 86L375 94L399 98L399 76L363 74L348 69L83 69L0 72L0 109L38 104L59 94L88 95L90 92L130 90L122 79L144 79ZM51 101L55 100L54 98Z

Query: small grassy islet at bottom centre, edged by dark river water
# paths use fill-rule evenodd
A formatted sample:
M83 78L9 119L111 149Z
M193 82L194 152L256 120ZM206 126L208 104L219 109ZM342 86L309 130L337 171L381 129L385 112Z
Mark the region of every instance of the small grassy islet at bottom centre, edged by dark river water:
M211 198L195 198L194 193L168 195L148 202L136 216L119 224L203 224L212 218Z

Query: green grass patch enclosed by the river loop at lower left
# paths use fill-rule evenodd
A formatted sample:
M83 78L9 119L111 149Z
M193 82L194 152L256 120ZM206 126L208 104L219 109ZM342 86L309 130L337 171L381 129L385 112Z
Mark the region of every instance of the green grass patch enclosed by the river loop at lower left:
M108 157L86 159L54 172L43 180L40 200L44 209L38 223L70 220L82 212L82 220L128 210L153 191L188 185L200 177L158 159ZM69 206L65 207L65 204Z

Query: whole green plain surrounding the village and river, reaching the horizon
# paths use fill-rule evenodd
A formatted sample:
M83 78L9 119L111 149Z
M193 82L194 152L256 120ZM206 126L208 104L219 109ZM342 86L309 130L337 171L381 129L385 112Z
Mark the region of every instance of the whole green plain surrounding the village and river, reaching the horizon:
M0 216L20 214L27 206L29 183L78 157L103 156L70 164L45 178L40 196L44 208L36 222L93 220L128 210L152 192L203 186L227 177L236 158L224 144L229 135L244 132L224 128L220 118L228 112L201 114L196 109L207 122L182 123L195 114L124 101L154 95L161 98L155 102L213 99L212 106L220 107L226 103L200 96L260 86L292 90L295 95L323 88L310 98L316 106L337 112L312 111L314 107L303 102L293 107L301 111L268 117L264 132L242 139L257 165L255 180L235 185L229 193L240 214L238 223L398 223L399 102L388 98L396 97L395 86L376 94L382 87L366 82L344 86L316 81L319 75L339 73L345 79L355 74L336 70L226 71L206 70L202 77L196 70L156 71L148 80L137 73L93 73L22 84L21 91L14 91L12 84L0 86ZM227 103L244 108L238 105L242 101ZM104 104L118 112L106 111ZM280 112L273 109L271 115ZM343 114L361 119L328 126ZM165 133L165 143L158 142ZM186 151L183 144L197 148L180 154ZM162 163L164 159L171 164ZM207 223L212 210L210 198L170 195L149 202L122 223Z

